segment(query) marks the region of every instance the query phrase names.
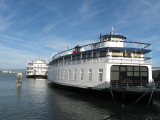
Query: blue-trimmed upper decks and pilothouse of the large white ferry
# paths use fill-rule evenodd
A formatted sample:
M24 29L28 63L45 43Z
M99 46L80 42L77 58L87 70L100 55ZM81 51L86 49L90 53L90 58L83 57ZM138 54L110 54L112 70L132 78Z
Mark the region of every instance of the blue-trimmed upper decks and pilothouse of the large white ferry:
M50 63L103 58L108 62L143 64L144 61L151 59L147 56L147 53L151 52L149 43L127 41L125 36L118 35L113 30L107 35L100 34L99 39L100 42L77 45L72 49L62 51L54 55Z

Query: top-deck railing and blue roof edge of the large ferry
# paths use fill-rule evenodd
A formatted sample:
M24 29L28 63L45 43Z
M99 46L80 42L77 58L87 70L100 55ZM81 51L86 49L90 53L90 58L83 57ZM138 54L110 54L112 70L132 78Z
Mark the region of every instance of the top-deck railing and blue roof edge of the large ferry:
M107 42L110 42L110 41L107 41ZM143 54L151 52L151 44L149 43L132 42L132 41L111 41L111 42L117 43L117 46L119 45L119 42L122 42L123 47L116 47L116 44L115 44L115 47L105 46L106 41L91 43L91 44L87 44L83 46L78 46L80 48L80 51L78 52L75 51L75 48L64 50L54 55L52 57L52 60L57 59L62 56L64 57L64 56L69 56L73 54L87 53L91 51L129 50L129 51L141 52Z

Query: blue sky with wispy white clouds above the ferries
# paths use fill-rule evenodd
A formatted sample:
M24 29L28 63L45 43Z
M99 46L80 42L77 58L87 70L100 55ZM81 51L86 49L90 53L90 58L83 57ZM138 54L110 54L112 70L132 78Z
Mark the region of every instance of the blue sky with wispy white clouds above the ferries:
M0 68L48 61L112 27L128 41L151 43L152 64L160 66L160 0L0 0Z

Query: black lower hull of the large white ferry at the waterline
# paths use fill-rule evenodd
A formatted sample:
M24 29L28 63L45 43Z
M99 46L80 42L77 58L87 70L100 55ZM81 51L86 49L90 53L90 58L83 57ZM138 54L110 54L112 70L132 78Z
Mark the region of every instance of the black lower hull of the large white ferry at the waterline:
M56 88L77 92L83 95L107 98L122 103L125 102L140 102L146 104L148 102L152 103L152 96L154 93L152 89L142 90L142 91L126 90L126 89L110 89L110 88L96 90L90 87L79 88L75 86L62 85L55 82L51 82L49 83L49 85Z

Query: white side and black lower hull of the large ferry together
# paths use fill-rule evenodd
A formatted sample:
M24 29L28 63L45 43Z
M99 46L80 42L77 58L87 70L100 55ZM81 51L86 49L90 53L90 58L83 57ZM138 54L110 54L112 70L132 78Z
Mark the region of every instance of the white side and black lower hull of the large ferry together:
M95 60L96 61L96 60ZM58 87L60 89L65 89L65 90L70 90L74 92L80 92L80 93L85 93L88 95L94 95L94 96L99 96L99 97L105 97L108 99L115 99L118 101L131 101L134 102L138 100L143 94L145 94L145 90L126 90L123 88L118 88L118 89L112 89L111 88L111 66L115 64L108 64L105 63L104 60L101 63L94 63L95 62L90 61L88 63L82 63L82 64L77 64L75 65L67 65L67 66L50 66L49 71L48 71L48 80L51 82L51 84L54 87ZM116 64L116 65L128 65L128 64ZM133 64L132 64L133 66ZM134 66L137 66L135 64ZM142 65L144 66L144 65ZM151 68L151 65L145 65L147 68ZM66 75L66 79L63 78L57 78L57 74L55 74L54 71L57 70L74 70L76 69L77 71L80 71L82 68L85 68L84 71L86 71L84 75L84 79L80 79L80 74L77 74L76 80L70 79L68 80L67 78L69 76ZM89 76L87 75L87 70L89 68L92 68L93 70L93 79L92 81L89 81L87 79ZM99 81L98 79L98 73L97 70L102 68L105 73L103 75L103 81ZM150 75L152 75L151 71L148 71ZM73 78L74 75L72 74L71 77ZM151 76L149 76L151 79ZM148 91L145 96L143 96L143 99L139 100L139 102L145 102L147 103L150 99L151 91Z

